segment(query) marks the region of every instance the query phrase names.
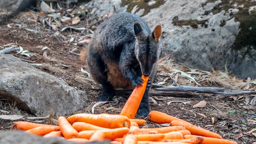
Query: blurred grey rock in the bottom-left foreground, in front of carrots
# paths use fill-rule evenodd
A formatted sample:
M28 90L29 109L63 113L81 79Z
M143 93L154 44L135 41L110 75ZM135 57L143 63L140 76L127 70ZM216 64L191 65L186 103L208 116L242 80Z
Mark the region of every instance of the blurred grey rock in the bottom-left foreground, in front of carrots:
M22 131L2 131L0 132L0 143L3 144L77 144L75 142L63 140L60 137L39 137ZM111 144L109 141L95 141L86 144Z

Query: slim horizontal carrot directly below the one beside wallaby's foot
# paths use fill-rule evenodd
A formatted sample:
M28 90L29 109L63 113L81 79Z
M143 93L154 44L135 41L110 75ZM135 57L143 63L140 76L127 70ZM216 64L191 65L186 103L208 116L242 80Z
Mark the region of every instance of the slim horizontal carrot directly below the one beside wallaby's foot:
M167 133L179 130L185 130L184 126L165 126L165 127L158 127L158 128L141 128L131 126L130 132L150 132L150 131L157 131L160 133Z

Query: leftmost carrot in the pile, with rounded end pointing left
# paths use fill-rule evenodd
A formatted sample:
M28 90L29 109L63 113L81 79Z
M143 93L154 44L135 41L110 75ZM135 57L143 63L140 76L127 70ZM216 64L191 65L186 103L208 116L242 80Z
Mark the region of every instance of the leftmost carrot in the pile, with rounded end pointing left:
M54 125L50 125L50 124L36 124L36 123L31 123L28 121L17 121L13 124L12 126L12 130L29 130L29 129L33 129L39 126L50 126L50 127L56 127L59 129L59 126L54 126Z

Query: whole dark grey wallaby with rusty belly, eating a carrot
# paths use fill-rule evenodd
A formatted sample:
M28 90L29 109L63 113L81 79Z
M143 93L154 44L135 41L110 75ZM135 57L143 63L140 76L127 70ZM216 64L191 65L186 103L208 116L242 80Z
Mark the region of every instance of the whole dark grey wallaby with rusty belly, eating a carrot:
M142 75L154 81L161 35L161 25L151 33L139 16L127 12L116 13L97 27L88 50L82 51L80 58L87 59L91 77L102 85L102 95L97 101L111 100L115 94L113 88L132 89L141 85ZM150 112L150 88L149 82L138 109L142 118Z

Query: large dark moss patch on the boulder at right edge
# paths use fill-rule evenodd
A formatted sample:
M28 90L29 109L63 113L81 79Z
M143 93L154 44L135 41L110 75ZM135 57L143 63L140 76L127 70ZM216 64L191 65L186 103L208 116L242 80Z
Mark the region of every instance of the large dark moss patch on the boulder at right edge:
M202 6L206 5L209 2L214 3L216 0L207 0ZM237 4L237 6L244 5L244 7L234 7L233 5ZM243 56L251 56L256 57L256 55L252 55L250 51L252 49L256 50L256 13L255 10L249 13L249 7L255 6L256 1L245 1L245 0L222 0L219 4L217 4L210 12L213 14L217 14L222 10L226 12L228 9L237 8L239 11L236 14L230 14L230 18L235 18L236 22L240 23L239 33L236 36L235 42L232 46L232 50L240 51ZM219 26L224 26L226 24L225 20L221 21Z

